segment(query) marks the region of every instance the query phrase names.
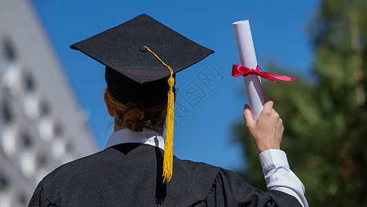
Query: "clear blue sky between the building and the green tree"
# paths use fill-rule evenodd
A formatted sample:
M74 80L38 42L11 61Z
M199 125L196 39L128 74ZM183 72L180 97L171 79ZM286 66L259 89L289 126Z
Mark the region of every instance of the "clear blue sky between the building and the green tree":
M103 103L104 66L69 46L139 14L149 14L216 51L176 77L181 114L176 119L174 154L180 159L204 161L231 170L244 168L242 152L233 143L231 130L235 121L244 123L243 105L247 103L244 90L240 92L244 88L243 79L231 77L232 64L240 64L233 22L249 19L262 70L266 71L267 62L275 61L301 77L311 74L313 48L306 26L317 10L316 0L33 2L78 101L89 115L101 149L113 128ZM216 79L205 81L203 77L208 71ZM200 99L185 96L185 89L192 87L198 89ZM275 103L275 110L277 104L285 103Z

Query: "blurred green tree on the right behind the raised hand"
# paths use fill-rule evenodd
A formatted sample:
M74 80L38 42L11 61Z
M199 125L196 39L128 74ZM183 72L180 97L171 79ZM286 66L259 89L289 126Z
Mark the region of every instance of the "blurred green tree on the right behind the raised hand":
M320 1L310 23L313 81L263 81L264 96L274 99L284 121L281 148L310 206L367 206L366 12L367 1ZM289 74L275 64L268 70ZM265 188L247 130L237 124L234 132L248 164L242 176Z

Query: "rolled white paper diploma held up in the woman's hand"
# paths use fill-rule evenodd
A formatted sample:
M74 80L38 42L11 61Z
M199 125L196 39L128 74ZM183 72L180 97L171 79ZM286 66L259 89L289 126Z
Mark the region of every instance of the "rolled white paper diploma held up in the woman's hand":
M253 48L249 20L233 23L233 29L241 66L255 69L258 66L258 61L256 61L255 49ZM264 106L264 93L262 92L260 77L247 75L244 77L244 85L246 86L247 99L249 99L253 119L256 120Z

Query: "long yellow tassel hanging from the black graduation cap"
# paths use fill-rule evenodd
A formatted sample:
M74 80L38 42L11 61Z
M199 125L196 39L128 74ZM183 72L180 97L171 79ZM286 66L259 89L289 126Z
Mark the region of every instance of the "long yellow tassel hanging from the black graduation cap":
M147 46L144 46L147 48ZM175 117L175 95L174 86L175 79L173 77L174 70L172 70L166 63L164 63L154 52L147 48L164 66L169 69L171 76L168 79L169 92L167 102L167 121L166 121L166 141L165 141L165 156L163 157L163 182L171 180L173 166L174 166L174 117Z

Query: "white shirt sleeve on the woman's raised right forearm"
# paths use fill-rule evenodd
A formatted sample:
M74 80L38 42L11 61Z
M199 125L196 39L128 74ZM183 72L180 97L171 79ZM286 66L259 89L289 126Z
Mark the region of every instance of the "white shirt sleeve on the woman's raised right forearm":
M286 153L282 150L265 150L259 155L262 172L268 190L279 190L293 195L304 207L308 207L304 197L304 185L289 168Z

